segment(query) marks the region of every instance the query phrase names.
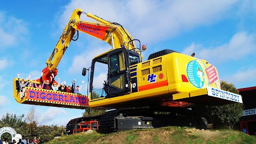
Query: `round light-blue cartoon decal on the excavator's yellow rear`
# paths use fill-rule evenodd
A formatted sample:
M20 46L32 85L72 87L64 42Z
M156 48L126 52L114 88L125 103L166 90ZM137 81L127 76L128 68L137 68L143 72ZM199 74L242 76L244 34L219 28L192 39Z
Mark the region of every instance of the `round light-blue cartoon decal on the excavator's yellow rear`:
M205 69L206 66L201 60L190 61L187 66L189 82L199 89L209 85L209 79L206 77Z

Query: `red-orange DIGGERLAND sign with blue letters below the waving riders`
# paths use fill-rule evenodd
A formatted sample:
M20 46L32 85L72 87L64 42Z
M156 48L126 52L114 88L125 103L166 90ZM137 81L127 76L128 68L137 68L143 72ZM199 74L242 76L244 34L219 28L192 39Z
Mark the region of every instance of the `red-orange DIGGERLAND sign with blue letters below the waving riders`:
M88 106L88 98L83 95L72 93L51 92L40 89L26 90L26 98L30 100L43 100L49 102L70 103Z

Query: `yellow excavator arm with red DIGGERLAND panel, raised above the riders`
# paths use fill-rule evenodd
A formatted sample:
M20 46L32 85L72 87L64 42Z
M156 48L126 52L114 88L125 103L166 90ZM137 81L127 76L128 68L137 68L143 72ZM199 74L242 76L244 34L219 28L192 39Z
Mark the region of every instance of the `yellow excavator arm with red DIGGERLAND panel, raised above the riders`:
M81 14L86 14L87 17L96 20L97 22L82 21L80 20ZM141 50L138 50L135 46L132 36L130 33L116 22L103 20L96 15L91 13L86 13L81 9L75 9L67 23L66 28L54 47L52 54L49 59L46 60L46 68L42 71L43 81L50 79L51 74L57 75L57 66L66 52L71 40L76 41L74 35L77 31L76 39L78 38L78 31L82 31L88 35L101 39L107 42L113 49L118 49L120 47L125 47L126 49L136 51L140 54ZM142 55L141 55L142 58Z

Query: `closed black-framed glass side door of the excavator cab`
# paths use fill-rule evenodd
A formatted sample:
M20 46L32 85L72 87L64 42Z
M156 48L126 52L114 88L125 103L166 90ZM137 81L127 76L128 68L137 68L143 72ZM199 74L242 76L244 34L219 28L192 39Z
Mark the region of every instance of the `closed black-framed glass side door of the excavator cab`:
M108 53L108 97L131 91L128 52L124 48Z

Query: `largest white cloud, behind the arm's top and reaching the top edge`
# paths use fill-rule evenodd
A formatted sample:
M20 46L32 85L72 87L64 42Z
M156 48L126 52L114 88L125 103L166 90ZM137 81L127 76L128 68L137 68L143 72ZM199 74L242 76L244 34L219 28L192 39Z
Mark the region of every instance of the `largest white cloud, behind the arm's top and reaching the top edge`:
M237 1L83 1L73 0L59 17L60 28L66 26L77 7L107 21L123 25L134 38L156 43L180 31L209 25L224 17ZM93 5L93 6L92 6ZM95 6L97 5L97 9ZM116 9L119 7L119 9ZM86 16L82 14L81 19ZM86 18L86 21L94 21Z

